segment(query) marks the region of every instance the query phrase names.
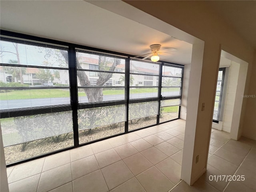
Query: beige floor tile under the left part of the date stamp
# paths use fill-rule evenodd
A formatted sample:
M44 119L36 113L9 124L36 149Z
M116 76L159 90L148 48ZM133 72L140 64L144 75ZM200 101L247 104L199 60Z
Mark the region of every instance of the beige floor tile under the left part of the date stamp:
M204 178L204 180L206 182L208 182L209 184L214 186L216 189L218 189L220 191L223 191L228 183L226 181L223 181L223 180L221 180L221 181L218 180L218 182L216 182L216 180L214 180L213 178L210 178L210 175L217 177L218 175L226 175L226 174L224 172L221 172L221 171L217 170L216 168L214 168L214 167L212 167L208 164L207 165L207 171L202 176L202 178Z

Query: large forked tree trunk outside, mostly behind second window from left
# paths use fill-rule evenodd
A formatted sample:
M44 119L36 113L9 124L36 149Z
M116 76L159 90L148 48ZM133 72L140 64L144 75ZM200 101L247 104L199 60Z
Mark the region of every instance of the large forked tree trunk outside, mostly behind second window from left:
M68 53L66 51L62 51L62 56L66 59L66 63L68 63ZM99 70L108 70L108 71L114 71L116 69L116 66L120 64L120 59L113 58L112 60L108 60L105 56L99 56L98 59L98 67ZM109 67L109 64L112 64L111 67ZM82 69L82 66L78 59L76 59L76 66L78 69ZM112 73L104 73L104 72L98 72L98 79L96 82L96 86L103 86L111 77ZM93 85L90 83L90 80L86 73L84 71L78 70L77 72L78 80L80 82L81 86L87 86L92 87ZM103 88L83 88L88 101L89 102L101 102L103 101Z

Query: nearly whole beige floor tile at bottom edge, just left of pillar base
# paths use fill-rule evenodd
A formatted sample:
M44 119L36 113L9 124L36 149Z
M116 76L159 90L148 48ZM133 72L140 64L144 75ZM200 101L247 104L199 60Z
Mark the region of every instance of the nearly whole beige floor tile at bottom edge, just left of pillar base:
M147 192L168 192L174 184L154 166L136 176Z

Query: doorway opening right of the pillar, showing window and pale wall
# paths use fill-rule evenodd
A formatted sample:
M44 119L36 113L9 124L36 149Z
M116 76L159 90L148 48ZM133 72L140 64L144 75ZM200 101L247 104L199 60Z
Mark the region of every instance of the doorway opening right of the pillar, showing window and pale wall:
M222 50L216 86L212 128L238 140L248 63Z

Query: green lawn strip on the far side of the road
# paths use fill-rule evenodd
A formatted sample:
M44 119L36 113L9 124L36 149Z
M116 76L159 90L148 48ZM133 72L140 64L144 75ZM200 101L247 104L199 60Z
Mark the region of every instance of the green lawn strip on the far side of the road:
M179 88L168 88L168 91L178 91ZM158 92L157 88L130 89L130 93L152 93ZM124 90L103 90L103 95L124 94ZM0 100L14 99L36 99L36 98L58 98L69 97L69 89L38 89L38 90L13 90L0 92ZM84 92L78 92L78 96L86 96Z

